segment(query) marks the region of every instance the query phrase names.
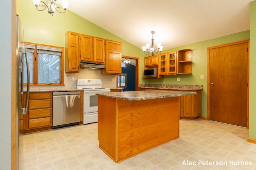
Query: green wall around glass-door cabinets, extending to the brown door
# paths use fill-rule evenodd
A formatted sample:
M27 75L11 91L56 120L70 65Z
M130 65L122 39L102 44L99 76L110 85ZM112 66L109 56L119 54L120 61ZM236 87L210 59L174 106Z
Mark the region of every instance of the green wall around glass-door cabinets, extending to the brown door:
M207 48L250 39L250 31L244 31L237 34L223 36L220 38L207 40L203 42L193 43L182 47L168 49L163 51L175 51L180 49L192 49L192 74L188 75L166 75L164 79L142 79L141 84L184 84L184 85L203 85L202 91L202 117L207 117ZM140 75L143 70L140 69ZM200 75L204 75L204 79L200 79ZM180 77L180 81L177 81Z

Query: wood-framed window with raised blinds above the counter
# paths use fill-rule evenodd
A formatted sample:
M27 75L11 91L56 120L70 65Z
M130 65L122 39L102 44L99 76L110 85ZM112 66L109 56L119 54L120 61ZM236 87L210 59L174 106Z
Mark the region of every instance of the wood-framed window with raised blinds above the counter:
M24 47L27 48L28 52L30 84L64 85L63 47L33 43L24 43ZM24 59L24 61L26 61L26 59ZM24 83L27 83L25 62Z

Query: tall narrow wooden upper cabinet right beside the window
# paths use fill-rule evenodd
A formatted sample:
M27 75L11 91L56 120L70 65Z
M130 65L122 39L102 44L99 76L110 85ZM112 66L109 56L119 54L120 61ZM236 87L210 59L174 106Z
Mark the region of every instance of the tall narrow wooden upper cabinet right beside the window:
M79 34L75 32L67 32L65 38L65 65L66 72L79 72Z

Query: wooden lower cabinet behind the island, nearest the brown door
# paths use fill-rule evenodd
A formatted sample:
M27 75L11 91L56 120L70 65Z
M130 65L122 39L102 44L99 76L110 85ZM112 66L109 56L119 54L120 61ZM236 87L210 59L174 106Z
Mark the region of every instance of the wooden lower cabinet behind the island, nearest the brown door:
M139 88L139 91L141 90L165 90L165 89ZM183 90L172 90L172 91L183 91ZM197 94L181 96L179 98L180 119L190 119L190 120L198 119L202 115L202 90L186 90L186 91L196 92Z

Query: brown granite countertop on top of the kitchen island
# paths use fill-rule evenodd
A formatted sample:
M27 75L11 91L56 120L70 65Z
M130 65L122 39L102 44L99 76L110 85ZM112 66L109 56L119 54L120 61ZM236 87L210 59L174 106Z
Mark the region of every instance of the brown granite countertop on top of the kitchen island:
M96 93L96 95L111 97L111 98L116 98L116 99L123 99L123 100L128 100L128 101L160 99L160 98L178 97L178 96L195 95L195 94L196 94L195 92L164 91L164 90Z

